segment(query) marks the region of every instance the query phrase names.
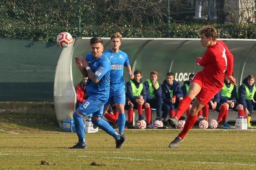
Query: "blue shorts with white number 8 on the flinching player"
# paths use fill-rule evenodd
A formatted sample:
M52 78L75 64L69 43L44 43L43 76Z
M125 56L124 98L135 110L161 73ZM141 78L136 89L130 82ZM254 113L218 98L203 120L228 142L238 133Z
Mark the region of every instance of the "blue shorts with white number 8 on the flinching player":
M105 102L91 96L77 110L84 116L102 117L104 104Z

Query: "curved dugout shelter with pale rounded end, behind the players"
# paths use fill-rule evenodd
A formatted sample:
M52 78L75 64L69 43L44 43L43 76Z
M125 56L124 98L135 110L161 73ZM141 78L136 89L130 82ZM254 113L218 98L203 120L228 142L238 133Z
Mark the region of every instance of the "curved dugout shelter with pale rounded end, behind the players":
M102 38L105 50L110 48L110 38ZM221 40L221 39L220 39ZM248 74L256 75L256 40L222 39L234 56L233 75L240 85ZM75 86L82 80L74 58L85 56L90 52L90 38L76 38L73 45L64 48L59 57L55 72L54 104L59 124L64 119L72 119L75 109ZM206 48L200 39L151 39L123 38L120 50L128 54L132 71L140 70L143 82L149 78L151 71L157 71L158 82L162 83L168 72L175 74L175 80L183 85L190 73L202 69L195 59L201 57ZM124 71L124 79L129 77Z

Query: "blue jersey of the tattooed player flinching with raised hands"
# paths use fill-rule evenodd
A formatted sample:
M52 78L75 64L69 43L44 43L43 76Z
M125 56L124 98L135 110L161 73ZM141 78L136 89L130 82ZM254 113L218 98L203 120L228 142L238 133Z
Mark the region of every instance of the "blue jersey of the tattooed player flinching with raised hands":
M90 77L86 83L86 89L88 96L94 96L95 98L106 102L109 97L109 75L110 75L110 61L108 57L102 54L98 59L93 59L93 55L88 53L85 57L89 67L94 72L98 83L94 83Z

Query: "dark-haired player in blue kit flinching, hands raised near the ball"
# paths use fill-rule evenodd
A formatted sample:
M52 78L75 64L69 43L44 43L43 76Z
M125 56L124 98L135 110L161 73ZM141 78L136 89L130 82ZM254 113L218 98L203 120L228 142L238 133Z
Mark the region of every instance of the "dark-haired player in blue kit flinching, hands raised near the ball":
M116 140L116 148L121 148L125 136L117 133L105 120L101 119L105 102L109 96L110 61L102 54L103 41L99 37L90 39L90 53L84 58L75 57L76 66L84 77L89 77L86 83L88 99L74 112L73 119L78 136L78 143L70 149L86 149L84 137L83 116L92 115L92 123L99 126Z

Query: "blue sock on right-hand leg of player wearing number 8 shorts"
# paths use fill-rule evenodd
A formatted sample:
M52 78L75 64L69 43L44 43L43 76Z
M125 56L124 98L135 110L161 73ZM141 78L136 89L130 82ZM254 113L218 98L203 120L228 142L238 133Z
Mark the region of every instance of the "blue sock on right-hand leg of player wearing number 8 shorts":
M92 120L92 123L98 127L100 127L102 130L104 130L106 133L108 133L109 135L113 136L116 140L118 140L120 138L121 135L119 135L118 133L116 133L116 130L114 130L109 124L108 122L106 122L103 119L99 119L99 120Z

